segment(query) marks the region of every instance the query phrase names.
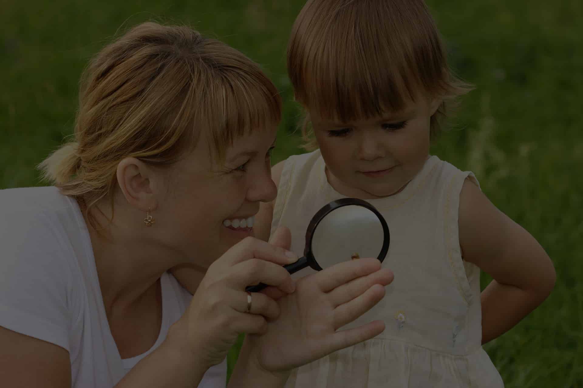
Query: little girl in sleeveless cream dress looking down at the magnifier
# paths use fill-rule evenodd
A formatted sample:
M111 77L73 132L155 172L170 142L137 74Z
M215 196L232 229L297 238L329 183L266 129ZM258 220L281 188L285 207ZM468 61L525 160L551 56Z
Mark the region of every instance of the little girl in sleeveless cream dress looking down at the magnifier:
M555 273L472 172L429 155L448 101L469 87L449 72L426 5L309 0L287 65L307 146L317 150L273 167L278 197L255 231L267 238L286 225L302 253L321 206L365 199L387 219L383 266L395 274L388 297L357 320L382 319L384 333L298 368L288 386L502 387L482 344L535 309ZM481 294L480 269L494 278Z

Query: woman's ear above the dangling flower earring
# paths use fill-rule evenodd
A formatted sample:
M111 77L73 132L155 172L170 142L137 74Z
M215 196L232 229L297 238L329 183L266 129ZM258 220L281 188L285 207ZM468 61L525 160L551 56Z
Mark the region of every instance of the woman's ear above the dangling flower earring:
M158 178L151 167L136 158L125 158L117 165L117 183L131 206L144 212L157 206Z

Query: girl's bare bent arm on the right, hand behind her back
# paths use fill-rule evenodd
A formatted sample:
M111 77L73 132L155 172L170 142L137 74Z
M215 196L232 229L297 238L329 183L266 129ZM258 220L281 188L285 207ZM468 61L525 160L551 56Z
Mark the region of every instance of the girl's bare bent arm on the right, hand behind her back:
M459 203L463 259L490 274L482 292L482 344L514 327L553 290L553 263L529 232L466 179Z

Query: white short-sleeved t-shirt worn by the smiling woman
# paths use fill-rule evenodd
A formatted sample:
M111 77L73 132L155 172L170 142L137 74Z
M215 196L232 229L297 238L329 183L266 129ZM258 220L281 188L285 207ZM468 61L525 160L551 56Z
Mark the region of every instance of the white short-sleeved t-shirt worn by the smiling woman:
M54 187L0 191L0 326L67 350L72 387L113 387L162 343L192 296L169 273L161 277L161 292L156 343L121 359L76 201ZM199 388L224 387L226 375L223 361L206 372Z

